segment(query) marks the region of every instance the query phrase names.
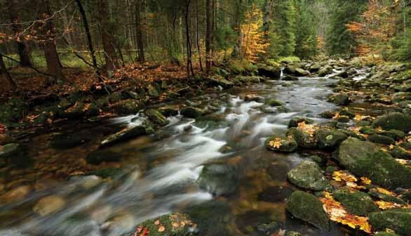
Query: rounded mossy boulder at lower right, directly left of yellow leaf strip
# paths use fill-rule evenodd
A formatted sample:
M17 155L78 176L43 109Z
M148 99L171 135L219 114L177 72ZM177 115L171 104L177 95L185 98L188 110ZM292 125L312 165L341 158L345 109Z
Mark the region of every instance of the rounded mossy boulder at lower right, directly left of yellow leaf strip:
M328 230L330 222L323 209L323 203L310 193L296 191L288 198L285 209L295 218L306 221L321 230Z

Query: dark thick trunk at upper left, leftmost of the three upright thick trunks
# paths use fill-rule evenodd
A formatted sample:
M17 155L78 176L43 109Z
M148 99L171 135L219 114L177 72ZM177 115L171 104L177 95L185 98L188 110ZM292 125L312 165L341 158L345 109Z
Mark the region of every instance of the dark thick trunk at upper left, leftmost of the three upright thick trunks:
M21 27L18 24L20 22L20 18L18 17L18 11L15 7L18 5L18 0L12 0L9 2L8 11L10 14L10 19L12 22L11 28L13 29L14 34L18 37L17 41L17 50L18 55L20 57L20 65L23 67L32 67L32 58L30 56L30 48L27 41L24 37L20 37Z

